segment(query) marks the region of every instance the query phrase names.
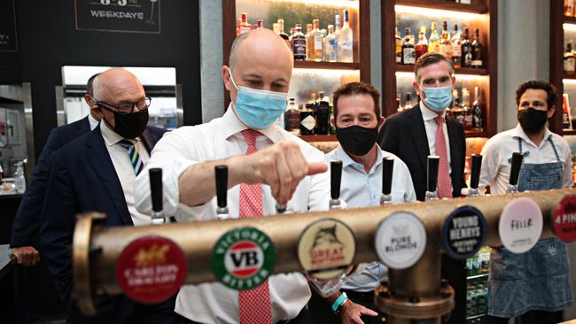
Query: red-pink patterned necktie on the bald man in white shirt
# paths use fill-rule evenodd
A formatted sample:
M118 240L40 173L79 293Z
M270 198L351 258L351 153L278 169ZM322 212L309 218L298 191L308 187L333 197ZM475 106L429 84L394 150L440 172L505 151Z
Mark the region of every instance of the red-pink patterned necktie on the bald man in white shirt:
M256 152L256 138L262 134L253 130L242 131L248 150L245 155ZM261 184L240 184L240 218L262 217ZM241 324L272 323L272 306L268 280L256 288L238 292Z

